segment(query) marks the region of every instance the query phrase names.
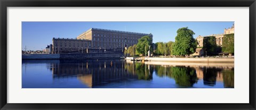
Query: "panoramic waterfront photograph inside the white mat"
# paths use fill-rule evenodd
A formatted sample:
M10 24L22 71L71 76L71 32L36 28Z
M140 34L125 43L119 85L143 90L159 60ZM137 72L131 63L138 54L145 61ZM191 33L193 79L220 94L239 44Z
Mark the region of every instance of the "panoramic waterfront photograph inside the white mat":
M235 88L234 21L22 22L22 88Z

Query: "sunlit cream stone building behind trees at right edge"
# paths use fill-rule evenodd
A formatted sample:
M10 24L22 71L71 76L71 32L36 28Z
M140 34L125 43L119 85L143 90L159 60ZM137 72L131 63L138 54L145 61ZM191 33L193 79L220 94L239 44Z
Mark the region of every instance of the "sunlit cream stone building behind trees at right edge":
M202 56L204 55L204 50L203 48L203 41L205 37L210 37L210 36L214 36L216 38L216 45L222 47L223 45L223 37L224 35L230 34L230 33L235 33L235 26L233 24L233 26L231 28L228 29L224 29L224 33L221 34L212 34L209 36L198 36L196 37L196 40L198 41L198 45L197 45L197 49L196 52L193 54L194 56Z

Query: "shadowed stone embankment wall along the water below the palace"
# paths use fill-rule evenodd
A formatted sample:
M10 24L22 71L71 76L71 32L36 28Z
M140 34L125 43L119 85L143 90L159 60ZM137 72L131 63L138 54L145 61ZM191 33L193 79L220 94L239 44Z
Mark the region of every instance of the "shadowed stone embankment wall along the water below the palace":
M109 59L120 58L123 53L81 53L81 54L27 54L22 59Z

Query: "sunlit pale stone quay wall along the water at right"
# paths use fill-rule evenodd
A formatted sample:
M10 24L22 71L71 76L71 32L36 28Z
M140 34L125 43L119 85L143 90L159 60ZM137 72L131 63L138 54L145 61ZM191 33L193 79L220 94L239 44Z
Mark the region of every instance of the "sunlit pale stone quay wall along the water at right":
M161 62L230 62L234 63L234 58L167 58L167 57L126 57L126 60L142 59L147 61Z

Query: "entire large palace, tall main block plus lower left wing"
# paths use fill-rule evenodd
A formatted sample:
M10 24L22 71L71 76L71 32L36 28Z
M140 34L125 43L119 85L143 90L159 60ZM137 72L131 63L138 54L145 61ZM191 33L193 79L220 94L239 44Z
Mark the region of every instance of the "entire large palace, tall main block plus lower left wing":
M53 38L52 53L88 53L101 52L100 50L122 51L125 47L138 43L143 36L150 36L151 33L127 32L118 30L91 28L76 39L69 38ZM153 43L153 41L151 41Z

